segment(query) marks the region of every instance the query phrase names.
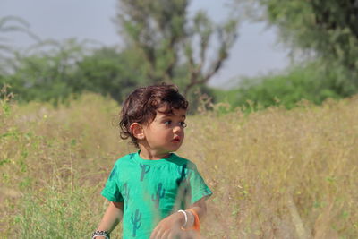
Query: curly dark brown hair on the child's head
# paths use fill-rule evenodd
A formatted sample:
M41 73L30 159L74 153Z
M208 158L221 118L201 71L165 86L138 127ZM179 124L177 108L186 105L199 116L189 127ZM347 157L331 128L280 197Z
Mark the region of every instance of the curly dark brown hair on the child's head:
M159 107L166 107L163 113L170 114L173 109L187 109L188 105L175 85L162 83L138 88L124 100L120 113L120 136L123 140L131 138L134 146L139 148L138 141L130 130L131 124L150 124Z

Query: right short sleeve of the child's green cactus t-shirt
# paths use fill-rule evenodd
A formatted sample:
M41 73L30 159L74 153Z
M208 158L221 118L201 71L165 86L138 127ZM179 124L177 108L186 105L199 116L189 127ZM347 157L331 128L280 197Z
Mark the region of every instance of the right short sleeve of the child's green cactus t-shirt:
M190 166L188 173L189 183L192 192L191 203L193 204L196 201L202 199L203 197L208 198L209 196L211 196L211 190L209 189L208 185L205 184L204 179L201 177L197 167L194 164Z

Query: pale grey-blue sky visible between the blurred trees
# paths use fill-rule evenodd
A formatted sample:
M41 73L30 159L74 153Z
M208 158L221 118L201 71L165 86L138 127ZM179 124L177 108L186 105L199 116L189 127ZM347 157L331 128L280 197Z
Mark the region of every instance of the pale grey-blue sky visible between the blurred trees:
M204 9L215 21L223 21L229 10L227 0L192 0L190 11ZM205 5L204 5L205 4ZM0 0L0 17L20 16L30 23L30 30L40 38L95 39L106 45L118 45L111 18L115 16L116 0ZM30 46L34 41L23 34L12 34L13 44ZM284 69L289 60L287 50L277 47L274 30L263 23L243 23L239 29L230 58L210 85L227 87L232 79L257 76Z

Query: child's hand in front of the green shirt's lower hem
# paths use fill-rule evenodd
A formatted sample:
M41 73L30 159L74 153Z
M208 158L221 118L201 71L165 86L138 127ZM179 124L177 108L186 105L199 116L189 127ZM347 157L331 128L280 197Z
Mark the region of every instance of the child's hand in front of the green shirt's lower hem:
M150 239L172 239L177 238L176 236L181 237L183 223L183 213L175 212L158 223L151 233Z

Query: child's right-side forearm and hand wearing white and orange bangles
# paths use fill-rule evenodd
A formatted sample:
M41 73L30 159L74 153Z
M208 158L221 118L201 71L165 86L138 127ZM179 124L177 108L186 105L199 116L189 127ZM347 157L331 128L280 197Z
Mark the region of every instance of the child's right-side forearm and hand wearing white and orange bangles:
M198 214L200 220L206 215L207 207L205 203L205 198L200 199L199 201L192 204L188 209L193 209ZM187 213L188 217L193 217L192 213ZM192 220L188 220L193 222ZM178 235L182 232L182 226L185 222L183 213L175 212L172 215L161 220L158 225L154 228L150 239L157 238L173 238L175 235ZM191 227L188 225L187 227Z

